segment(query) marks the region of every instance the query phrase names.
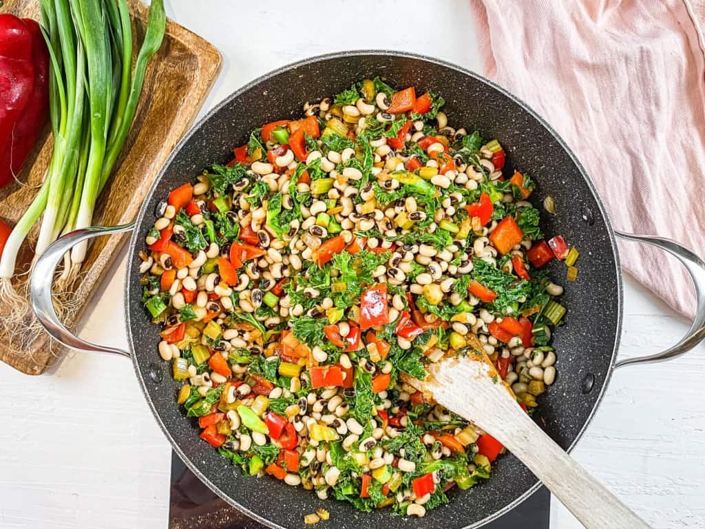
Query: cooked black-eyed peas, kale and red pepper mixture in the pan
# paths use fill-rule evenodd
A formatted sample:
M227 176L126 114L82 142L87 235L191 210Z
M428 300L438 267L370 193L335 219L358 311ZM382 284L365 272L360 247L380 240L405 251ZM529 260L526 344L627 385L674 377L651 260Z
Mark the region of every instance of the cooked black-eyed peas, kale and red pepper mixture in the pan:
M543 267L577 274L577 250L546 242L534 181L498 140L442 106L362 80L160 202L140 254L159 354L200 437L244 473L424 516L503 446L403 376L484 350L529 413L556 378L563 288Z

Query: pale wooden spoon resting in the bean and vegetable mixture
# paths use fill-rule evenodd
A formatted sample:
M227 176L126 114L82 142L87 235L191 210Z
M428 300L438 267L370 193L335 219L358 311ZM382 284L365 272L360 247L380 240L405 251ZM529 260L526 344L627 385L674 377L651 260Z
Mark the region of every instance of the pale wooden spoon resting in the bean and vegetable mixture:
M568 456L522 410L487 355L477 351L429 366L405 382L491 434L524 463L588 529L649 528Z

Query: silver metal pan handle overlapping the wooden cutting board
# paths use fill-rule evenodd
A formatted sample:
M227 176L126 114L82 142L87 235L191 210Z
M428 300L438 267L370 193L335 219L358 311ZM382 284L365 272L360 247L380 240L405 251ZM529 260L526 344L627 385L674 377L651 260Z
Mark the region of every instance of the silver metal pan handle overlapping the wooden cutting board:
M32 299L32 309L37 315L37 320L44 326L49 335L64 346L78 349L78 351L92 351L98 353L114 353L121 356L130 357L128 351L114 347L99 346L75 336L66 329L54 310L54 303L51 300L51 284L54 281L56 265L63 258L63 255L71 250L78 243L87 241L102 235L112 235L114 233L125 233L132 231L135 223L122 224L121 226L94 226L91 228L72 231L59 238L42 253L37 259L32 279L30 279L30 297Z

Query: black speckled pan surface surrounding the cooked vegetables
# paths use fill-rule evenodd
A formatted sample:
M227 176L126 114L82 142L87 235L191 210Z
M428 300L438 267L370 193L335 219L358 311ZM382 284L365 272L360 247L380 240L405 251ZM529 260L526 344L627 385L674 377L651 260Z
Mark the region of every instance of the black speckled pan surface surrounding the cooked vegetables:
M582 434L608 382L621 325L622 290L613 232L595 190L568 147L525 104L488 80L450 63L396 51L350 51L307 59L264 75L223 101L179 143L145 198L130 243L125 312L137 377L162 430L185 463L233 506L271 527L300 528L303 516L324 507L339 529L383 528L400 523L388 510L360 513L342 502L321 501L300 487L273 479L245 478L238 468L202 442L197 428L176 406L176 382L157 354L157 327L140 303L137 252L154 222L154 207L169 190L191 181L213 162L231 159L233 146L268 121L302 113L302 104L333 95L356 80L379 75L398 87L414 85L446 99L451 126L480 130L498 138L508 153L508 169L533 176L532 201L546 195L558 214L542 211L546 233L560 233L580 249L580 276L567 285L563 303L567 324L556 330L558 378L541 396L535 418L551 437L570 449ZM565 266L553 262L557 279ZM565 282L565 281L563 281ZM511 509L537 489L537 479L514 456L501 458L491 480L470 490L450 492L452 501L405 526L477 528Z

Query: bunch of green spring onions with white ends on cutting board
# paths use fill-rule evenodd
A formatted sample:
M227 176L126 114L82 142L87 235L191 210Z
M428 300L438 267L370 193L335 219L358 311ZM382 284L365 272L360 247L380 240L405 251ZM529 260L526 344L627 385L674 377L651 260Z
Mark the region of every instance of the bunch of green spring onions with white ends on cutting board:
M40 0L39 5L51 59L54 150L42 188L0 258L0 301L17 300L11 284L17 256L40 217L35 258L63 233L90 226L135 117L147 63L161 47L166 29L164 0L153 0L133 65L127 0ZM65 260L63 286L78 275L85 253L84 243Z

